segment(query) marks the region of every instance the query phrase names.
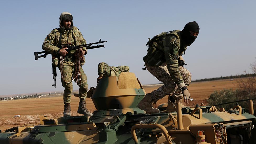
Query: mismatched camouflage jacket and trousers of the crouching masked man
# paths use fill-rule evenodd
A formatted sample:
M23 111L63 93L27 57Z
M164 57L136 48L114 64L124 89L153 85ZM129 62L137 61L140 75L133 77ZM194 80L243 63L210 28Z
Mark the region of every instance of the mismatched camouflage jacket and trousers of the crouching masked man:
M186 85L191 82L191 73L184 67L178 66L179 56L187 49L187 45L182 42L181 31L177 30L175 33L176 35L164 35L150 45L150 47L153 46L163 50L166 61L162 62L158 67L145 63L147 70L164 83L163 86L151 93L153 100L161 99L165 95L172 95L176 90L177 95L172 97L177 99L182 96L180 87L177 85L183 83L184 80L186 80Z

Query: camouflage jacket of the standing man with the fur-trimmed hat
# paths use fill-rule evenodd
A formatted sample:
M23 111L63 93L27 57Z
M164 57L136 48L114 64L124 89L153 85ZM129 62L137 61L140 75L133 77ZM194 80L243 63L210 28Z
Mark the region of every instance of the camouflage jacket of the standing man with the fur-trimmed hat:
M86 44L86 40L83 38L83 35L79 31L77 27L73 27L72 30L67 31L62 28L53 29L49 35L44 40L43 43L43 50L50 52L53 55L58 55L58 52L60 49L57 47L59 39L60 39L60 32L62 34L61 43L60 44L72 44L72 45L82 45ZM83 50L86 51L86 48L84 47ZM72 50L68 52L66 56L70 56L74 54L75 50Z

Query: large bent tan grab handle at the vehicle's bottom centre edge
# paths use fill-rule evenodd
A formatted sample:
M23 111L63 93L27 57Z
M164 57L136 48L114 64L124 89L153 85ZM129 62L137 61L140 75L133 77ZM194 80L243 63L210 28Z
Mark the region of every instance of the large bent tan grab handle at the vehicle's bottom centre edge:
M158 129L163 131L163 134L166 138L167 143L172 144L172 138L168 134L168 131L166 130L166 128L163 125L157 124L157 123L151 123L151 124L137 123L134 126L132 126L131 134L132 134L132 138L133 138L133 140L136 144L139 144L139 141L138 141L138 138L136 136L135 129L140 129L140 128L158 128Z

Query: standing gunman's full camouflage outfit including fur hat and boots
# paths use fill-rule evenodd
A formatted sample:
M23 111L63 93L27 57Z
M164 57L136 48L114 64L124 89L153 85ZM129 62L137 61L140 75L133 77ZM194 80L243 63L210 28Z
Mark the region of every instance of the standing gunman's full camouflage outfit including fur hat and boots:
M69 29L65 29L65 27L62 25L62 18L63 20L66 20L65 18L69 18L71 20L71 27ZM57 46L60 46L62 44L68 44L70 46L77 46L86 44L86 40L83 38L83 35L79 31L77 27L73 26L73 16L68 12L61 13L60 16L60 28L53 29L49 35L44 40L44 43L42 45L42 49L50 52L54 57L59 58L59 51L60 48ZM61 38L60 38L61 35ZM87 53L86 48L82 48L82 50L85 51L85 54ZM65 61L63 62L63 68L62 68L62 77L65 79L66 82L70 82L72 79L72 75L75 73L75 60L76 57L74 56L76 50L69 51L68 54L65 55ZM57 66L59 66L60 69L60 63L58 62L58 59L55 58L53 63ZM84 56L83 56L84 59ZM58 63L58 64L57 64ZM84 64L84 63L83 63ZM83 65L82 64L82 65ZM82 65L80 66L80 72L81 72L81 84L79 85L79 114L84 114L91 116L92 114L86 109L86 95L88 90L88 84L87 84L87 76L84 73L82 69ZM63 101L64 101L64 116L71 116L71 109L70 109L70 101L71 101L71 93L73 91L73 85L72 82L66 83L61 79L62 86L64 87L64 94L63 94ZM75 80L76 82L76 80Z

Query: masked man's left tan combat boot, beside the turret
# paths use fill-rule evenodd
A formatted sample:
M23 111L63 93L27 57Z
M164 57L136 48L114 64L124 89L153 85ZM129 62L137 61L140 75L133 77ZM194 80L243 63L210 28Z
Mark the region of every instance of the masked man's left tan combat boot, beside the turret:
M148 114L160 113L160 110L153 107L151 93L147 93L138 104L138 108L146 111Z

